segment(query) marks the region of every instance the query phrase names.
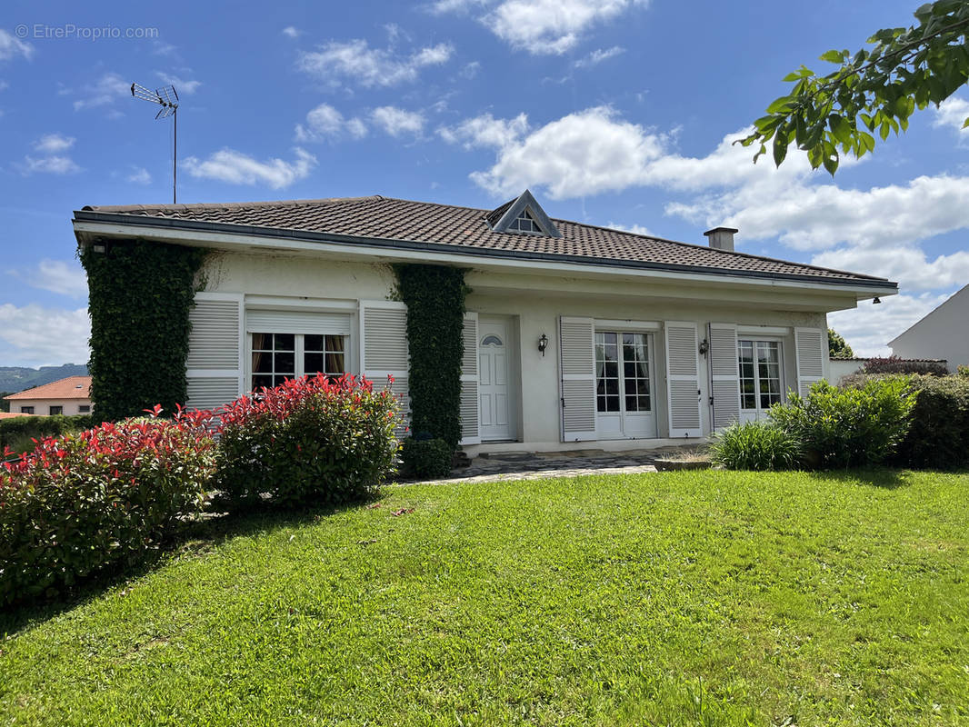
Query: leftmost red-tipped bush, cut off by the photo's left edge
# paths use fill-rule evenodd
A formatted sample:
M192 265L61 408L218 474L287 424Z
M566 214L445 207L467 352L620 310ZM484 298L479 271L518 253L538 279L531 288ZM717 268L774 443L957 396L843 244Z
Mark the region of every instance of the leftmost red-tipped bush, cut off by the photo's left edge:
M0 468L0 606L56 595L157 551L178 518L203 506L215 471L206 416L48 437Z

